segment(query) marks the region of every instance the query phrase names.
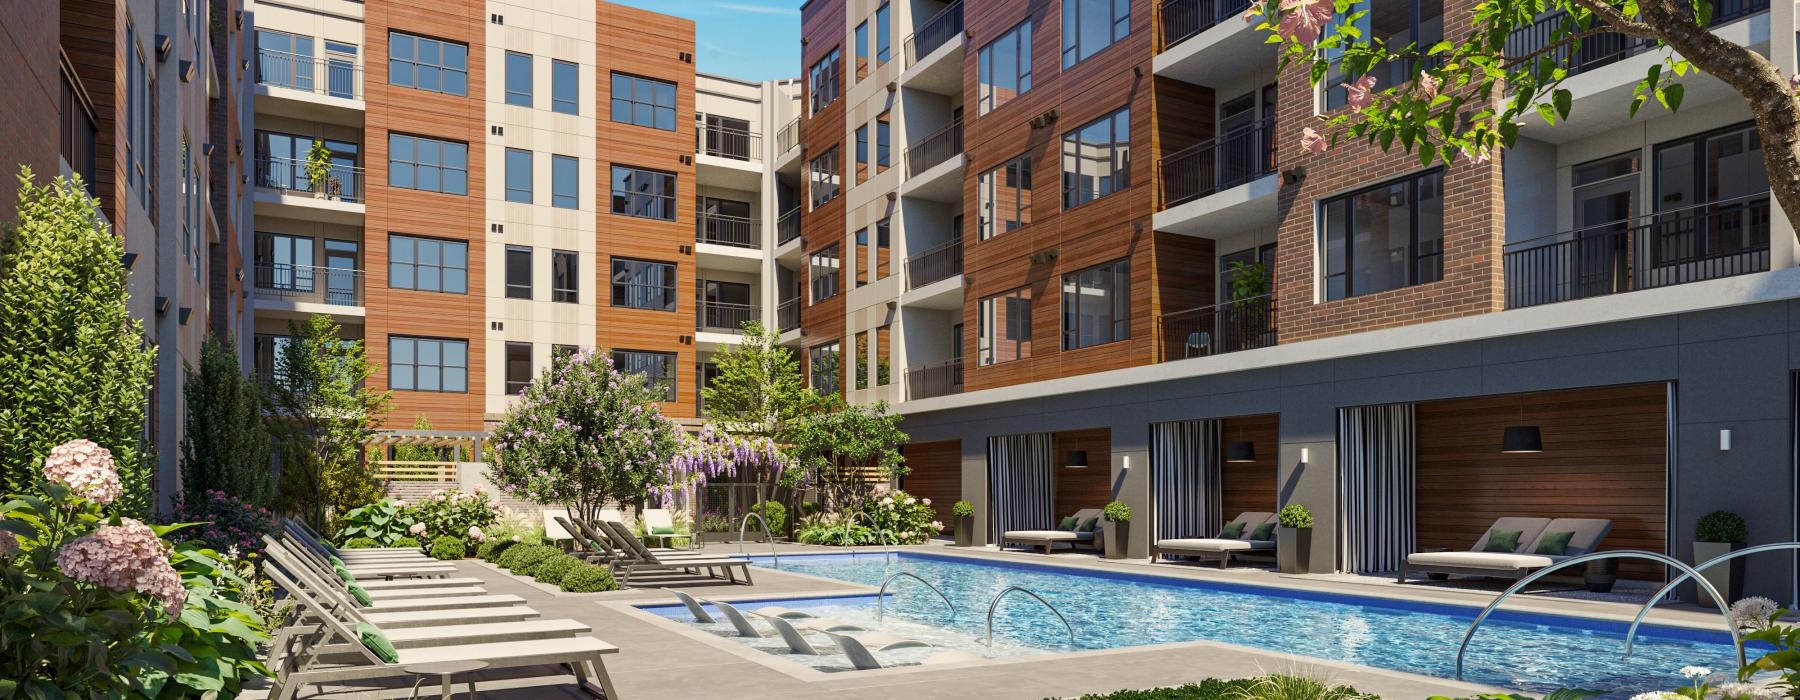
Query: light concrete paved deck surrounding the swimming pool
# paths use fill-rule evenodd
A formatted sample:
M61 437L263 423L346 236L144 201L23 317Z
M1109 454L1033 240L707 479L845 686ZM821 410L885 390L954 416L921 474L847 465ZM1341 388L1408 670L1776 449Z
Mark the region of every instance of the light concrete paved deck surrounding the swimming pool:
M841 547L778 545L783 554L844 552ZM992 547L958 549L941 543L896 547L977 560L1055 563L1075 569L1159 574L1184 579L1231 581L1303 590L1339 592L1357 596L1393 596L1413 601L1480 606L1499 590L1458 590L1433 587L1399 587L1370 581L1346 581L1341 576L1282 576L1265 569L1199 569L1193 565L1152 565L1148 561L1107 561L1091 554L1035 554L995 551ZM736 545L709 545L713 552L736 552ZM880 556L878 547L859 549ZM769 545L751 545L749 554L767 554ZM756 585L729 585L716 579L697 579L680 574L634 581L639 588L605 594L562 594L547 585L522 579L482 561L461 561L459 576L475 576L488 592L515 594L544 617L571 617L594 628L594 635L619 646L608 657L607 668L625 698L936 698L974 696L994 698L1069 698L1084 693L1179 686L1208 677L1233 678L1265 673L1296 673L1354 686L1364 693L1386 698L1424 698L1431 695L1467 696L1498 691L1487 686L1460 684L1445 678L1372 669L1301 659L1285 653L1260 651L1217 642L1184 642L1143 648L1118 648L1044 657L1019 657L947 666L913 666L880 671L821 673L706 632L661 619L635 605L673 603L664 588L679 588L709 599L770 599L830 594L866 594L871 587L830 581L823 578L754 569ZM1508 610L1546 614L1579 614L1629 621L1634 605L1571 601L1541 596L1517 596ZM1717 612L1658 608L1658 624L1719 628ZM1445 653L1453 653L1445 650ZM585 696L574 687L551 689L482 689L488 698L556 698Z

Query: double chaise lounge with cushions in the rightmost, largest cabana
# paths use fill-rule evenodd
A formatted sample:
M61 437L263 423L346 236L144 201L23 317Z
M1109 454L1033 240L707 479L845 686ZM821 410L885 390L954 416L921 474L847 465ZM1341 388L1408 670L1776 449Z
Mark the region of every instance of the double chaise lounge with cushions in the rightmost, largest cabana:
M1399 583L1406 583L1411 572L1424 572L1438 581L1451 574L1519 579L1571 556L1593 552L1611 531L1613 522L1598 518L1499 518L1467 552L1408 554Z

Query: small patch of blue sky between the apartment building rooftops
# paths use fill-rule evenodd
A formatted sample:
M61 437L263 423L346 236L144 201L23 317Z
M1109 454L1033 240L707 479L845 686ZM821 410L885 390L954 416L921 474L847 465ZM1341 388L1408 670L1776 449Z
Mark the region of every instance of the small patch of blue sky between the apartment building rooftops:
M799 77L801 0L616 0L695 22L700 72L745 81Z

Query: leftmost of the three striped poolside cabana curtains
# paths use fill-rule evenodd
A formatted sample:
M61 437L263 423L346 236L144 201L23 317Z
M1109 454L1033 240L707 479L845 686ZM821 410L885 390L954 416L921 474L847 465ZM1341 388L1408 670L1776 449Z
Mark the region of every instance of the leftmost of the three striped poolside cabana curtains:
M1015 529L1057 525L1057 470L1048 432L988 437L990 542Z

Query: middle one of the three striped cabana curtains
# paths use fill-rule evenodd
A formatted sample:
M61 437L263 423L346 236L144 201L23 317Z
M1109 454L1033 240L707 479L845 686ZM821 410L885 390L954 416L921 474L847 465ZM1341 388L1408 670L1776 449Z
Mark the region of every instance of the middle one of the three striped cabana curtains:
M1219 534L1219 421L1150 425L1152 542Z

